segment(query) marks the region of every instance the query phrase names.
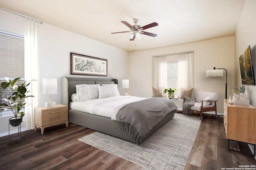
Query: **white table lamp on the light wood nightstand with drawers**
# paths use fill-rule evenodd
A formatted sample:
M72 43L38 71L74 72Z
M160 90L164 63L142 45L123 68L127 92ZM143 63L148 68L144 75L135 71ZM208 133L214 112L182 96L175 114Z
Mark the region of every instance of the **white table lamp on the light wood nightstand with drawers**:
M57 94L57 79L43 79L43 94L50 95L50 102L45 103L46 108L55 107L55 102L52 102L51 95Z

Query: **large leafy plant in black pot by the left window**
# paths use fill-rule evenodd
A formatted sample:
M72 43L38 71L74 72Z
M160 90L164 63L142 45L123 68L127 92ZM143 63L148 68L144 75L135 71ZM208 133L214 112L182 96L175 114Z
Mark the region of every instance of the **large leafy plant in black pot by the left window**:
M11 110L14 114L14 117L9 118L10 125L16 127L22 122L22 117L25 115L21 111L22 107L26 104L25 98L34 97L32 95L26 96L27 91L26 87L30 84L31 81L24 81L21 85L16 85L21 78L15 78L14 80L4 77L6 82L1 83L0 95L4 95L5 103L0 103L0 112L5 110ZM8 96L8 93L4 90L11 92L11 95Z

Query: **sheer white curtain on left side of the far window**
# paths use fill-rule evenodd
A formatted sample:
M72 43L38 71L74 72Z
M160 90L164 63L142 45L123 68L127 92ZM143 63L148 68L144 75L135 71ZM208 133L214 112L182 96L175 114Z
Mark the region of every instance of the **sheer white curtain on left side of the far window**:
M166 56L154 57L154 87L158 89L167 86L166 62Z

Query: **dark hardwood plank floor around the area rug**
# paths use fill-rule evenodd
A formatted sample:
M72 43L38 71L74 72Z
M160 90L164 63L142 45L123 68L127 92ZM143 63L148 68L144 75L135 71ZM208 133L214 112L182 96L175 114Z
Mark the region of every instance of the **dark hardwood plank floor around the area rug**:
M178 113L177 113L178 114ZM256 165L252 156L227 149L223 118L203 115L186 170L221 170ZM74 124L22 132L21 139L0 138L0 170L68 170L68 169L144 169L128 160L94 148L78 140L93 130ZM12 134L13 135L13 134ZM12 136L11 135L11 136ZM234 149L237 145L231 144ZM240 149L248 150L247 145Z

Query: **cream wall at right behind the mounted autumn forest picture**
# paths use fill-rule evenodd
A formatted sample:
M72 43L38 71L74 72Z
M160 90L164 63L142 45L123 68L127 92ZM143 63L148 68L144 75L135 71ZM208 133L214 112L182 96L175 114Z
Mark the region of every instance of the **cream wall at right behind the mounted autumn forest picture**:
M250 45L252 54L252 65L256 69L256 1L246 0L244 10L238 23L235 34L235 85L240 87L241 72L238 57ZM255 73L255 72L254 72ZM256 86L245 85L250 91L250 104L256 107Z

